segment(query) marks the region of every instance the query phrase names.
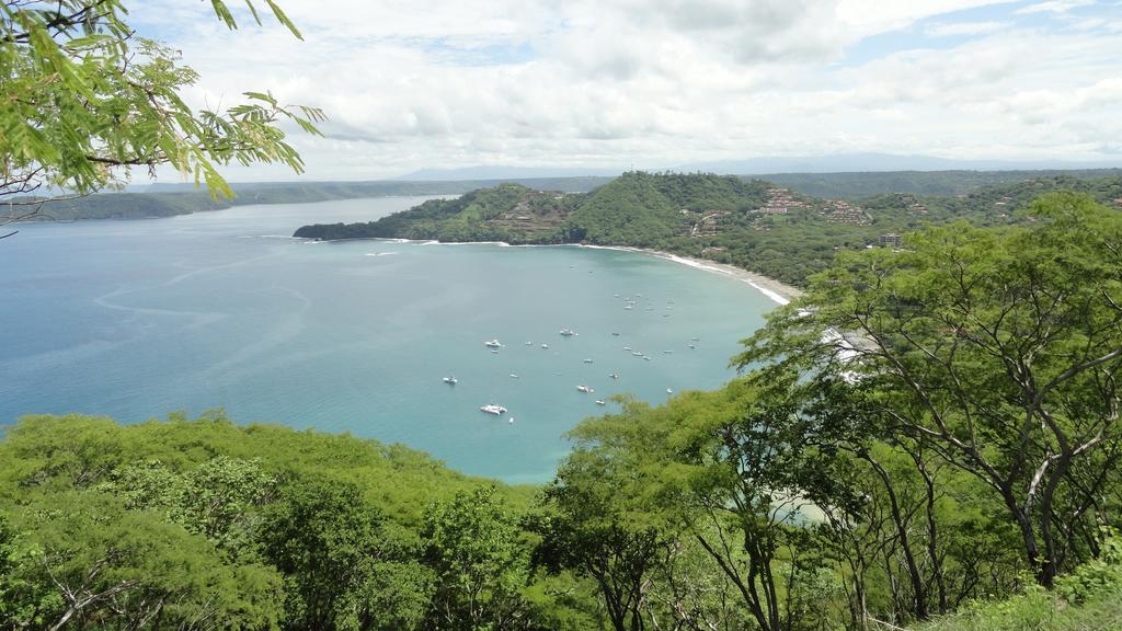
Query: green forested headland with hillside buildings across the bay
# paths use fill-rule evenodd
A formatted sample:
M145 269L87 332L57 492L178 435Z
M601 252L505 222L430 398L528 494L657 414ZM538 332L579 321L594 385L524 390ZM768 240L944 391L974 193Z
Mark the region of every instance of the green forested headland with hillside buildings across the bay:
M587 194L502 184L367 223L304 226L295 236L628 246L732 264L804 286L838 252L895 244L904 231L959 219L975 226L1028 222L1031 217L1018 211L1058 190L1122 205L1119 175L1050 175L972 193L884 193L850 202L762 180L632 172Z

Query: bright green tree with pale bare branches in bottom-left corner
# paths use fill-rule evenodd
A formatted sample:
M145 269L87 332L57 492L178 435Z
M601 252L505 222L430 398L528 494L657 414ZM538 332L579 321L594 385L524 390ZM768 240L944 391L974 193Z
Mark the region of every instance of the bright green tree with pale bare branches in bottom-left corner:
M232 629L278 621L275 570L229 565L204 538L158 513L86 491L31 503L18 516L27 551L16 577L31 588L6 603L17 614L6 621L12 628Z

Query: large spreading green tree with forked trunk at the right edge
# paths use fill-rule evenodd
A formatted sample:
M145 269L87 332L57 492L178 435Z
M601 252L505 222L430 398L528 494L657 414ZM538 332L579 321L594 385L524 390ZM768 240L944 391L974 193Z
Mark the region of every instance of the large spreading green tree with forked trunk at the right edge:
M1074 193L1030 212L840 256L738 362L854 382L885 438L993 490L1050 585L1093 554L1119 477L1122 216Z

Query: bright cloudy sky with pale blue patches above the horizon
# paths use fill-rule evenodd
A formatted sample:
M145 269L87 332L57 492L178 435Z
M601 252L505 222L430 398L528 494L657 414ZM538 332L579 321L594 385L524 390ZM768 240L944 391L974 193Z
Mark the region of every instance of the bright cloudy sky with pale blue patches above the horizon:
M849 153L1122 164L1122 0L278 4L303 42L272 17L230 31L205 1L129 7L199 71L188 102L322 108L324 137L292 134L312 180Z

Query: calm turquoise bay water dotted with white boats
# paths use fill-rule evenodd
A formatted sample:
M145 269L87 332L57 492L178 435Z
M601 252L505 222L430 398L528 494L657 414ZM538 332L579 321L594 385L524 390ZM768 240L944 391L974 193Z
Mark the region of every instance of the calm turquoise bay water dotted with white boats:
M597 399L657 403L723 384L737 340L774 307L744 283L633 253L286 237L420 201L22 226L0 241L0 422L222 406L238 422L348 431L542 482L562 435L614 408Z

